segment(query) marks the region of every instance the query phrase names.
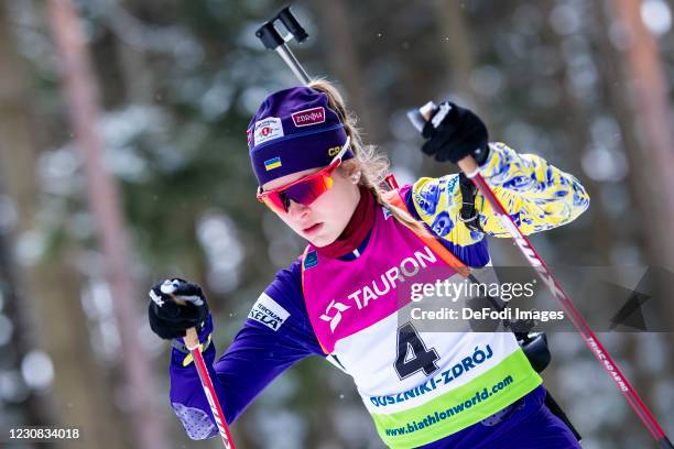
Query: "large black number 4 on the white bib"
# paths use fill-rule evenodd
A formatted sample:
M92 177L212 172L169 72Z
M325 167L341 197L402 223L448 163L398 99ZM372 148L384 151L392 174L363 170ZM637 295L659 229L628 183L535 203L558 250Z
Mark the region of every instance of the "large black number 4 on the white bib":
M402 381L412 374L424 371L431 375L437 370L435 361L439 359L435 349L426 349L426 344L411 322L405 322L398 328L398 355L393 368Z

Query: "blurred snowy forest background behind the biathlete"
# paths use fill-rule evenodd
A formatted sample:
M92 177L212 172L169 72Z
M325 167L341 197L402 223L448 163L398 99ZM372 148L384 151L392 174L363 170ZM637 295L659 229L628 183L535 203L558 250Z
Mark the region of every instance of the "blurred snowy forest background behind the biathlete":
M254 36L284 4L0 1L0 429L83 429L78 443L40 447L219 447L189 441L171 412L170 348L149 329L145 292L175 275L204 285L221 352L303 248L256 201L244 136L264 96L296 84ZM404 114L452 98L492 140L589 190L576 222L533 238L548 264L674 267L672 0L293 10L311 35L300 61L339 84L400 179L455 169L422 157ZM507 240L492 256L522 263ZM674 305L662 315L672 328ZM600 338L674 432L671 333ZM578 336L551 344L545 382L585 448L654 447ZM318 359L232 431L241 448L382 447L350 379Z

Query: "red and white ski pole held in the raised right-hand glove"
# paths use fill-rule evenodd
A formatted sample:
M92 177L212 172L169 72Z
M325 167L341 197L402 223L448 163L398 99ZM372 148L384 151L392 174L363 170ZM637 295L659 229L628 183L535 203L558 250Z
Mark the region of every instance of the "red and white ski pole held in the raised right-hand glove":
M410 121L412 121L413 125L421 132L423 125L431 119L432 112L436 109L436 105L430 101L421 109L407 112L407 117L410 118ZM655 438L655 441L657 441L662 449L674 449L674 446L672 446L672 442L665 435L662 427L660 427L660 424L655 417L651 414L649 407L643 403L643 401L641 401L641 397L639 397L637 391L632 387L624 374L622 374L622 371L620 371L616 362L613 362L613 359L604 348L604 344L601 344L597 338L597 335L593 331L593 329L590 329L589 325L585 318L583 318L578 309L576 309L570 300L570 297L566 294L564 288L562 288L562 285L552 274L543 261L543 258L539 255L526 236L522 233L520 228L518 228L510 215L506 211L506 208L503 205L501 205L501 201L497 198L491 187L480 174L480 168L477 162L475 162L472 156L466 156L458 162L458 166L466 174L466 176L472 179L482 196L487 199L494 213L501 221L503 228L510 232L529 264L536 271L536 274L547 286L547 288L550 288L553 296L557 299L566 315L569 317L578 333L580 333L589 347L590 351L593 351L601 366L604 366L618 388L622 392L628 403L632 406L632 409L637 413L639 418L641 418L653 438Z

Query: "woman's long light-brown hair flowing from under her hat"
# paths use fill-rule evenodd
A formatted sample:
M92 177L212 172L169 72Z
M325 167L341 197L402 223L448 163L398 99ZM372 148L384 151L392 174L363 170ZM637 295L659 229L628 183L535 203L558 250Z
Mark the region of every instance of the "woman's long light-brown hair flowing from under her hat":
M312 89L324 92L328 97L328 106L337 112L346 133L351 138L351 150L355 157L341 165L347 176L360 171L359 185L367 187L377 202L391 211L391 215L403 226L417 234L428 234L424 226L414 219L406 210L400 209L384 198L382 184L389 173L389 158L377 152L374 145L365 145L357 128L356 116L346 109L344 98L337 88L325 79L314 79L308 84Z

